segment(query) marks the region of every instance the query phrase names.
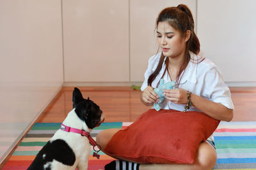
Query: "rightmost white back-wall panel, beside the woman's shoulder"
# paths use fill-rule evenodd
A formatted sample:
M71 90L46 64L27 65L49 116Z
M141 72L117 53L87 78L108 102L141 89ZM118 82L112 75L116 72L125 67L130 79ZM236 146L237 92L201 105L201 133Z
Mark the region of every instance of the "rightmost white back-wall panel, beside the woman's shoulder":
M254 0L198 0L201 54L220 67L228 85L256 86Z

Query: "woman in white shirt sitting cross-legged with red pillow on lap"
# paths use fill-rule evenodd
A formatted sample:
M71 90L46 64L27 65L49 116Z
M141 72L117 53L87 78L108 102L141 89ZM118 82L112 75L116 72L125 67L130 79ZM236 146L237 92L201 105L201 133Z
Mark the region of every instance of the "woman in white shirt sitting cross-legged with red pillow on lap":
M165 8L157 18L156 32L162 52L148 60L145 81L141 86L142 103L147 106L157 103L159 97L154 88L163 78L164 83L175 81L175 89L164 90L165 101L159 104L162 109L184 111L185 106L186 110L201 111L217 120L230 121L234 110L230 90L223 82L218 67L198 56L200 43L189 8L184 4ZM97 136L103 151L117 131L109 129ZM136 167L147 170L212 169L216 159L213 138L210 137L198 146L193 164L137 164ZM116 164L119 164L118 160L106 165L106 169L115 169Z

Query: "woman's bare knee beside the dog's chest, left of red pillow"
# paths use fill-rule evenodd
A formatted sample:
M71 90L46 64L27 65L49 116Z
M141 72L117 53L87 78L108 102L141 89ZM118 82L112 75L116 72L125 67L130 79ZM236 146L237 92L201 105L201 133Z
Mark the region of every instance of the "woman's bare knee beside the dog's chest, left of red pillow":
M97 134L97 144L101 146L101 149L104 150L108 145L110 139L114 136L114 134L119 131L120 129L107 129L104 131L99 132Z

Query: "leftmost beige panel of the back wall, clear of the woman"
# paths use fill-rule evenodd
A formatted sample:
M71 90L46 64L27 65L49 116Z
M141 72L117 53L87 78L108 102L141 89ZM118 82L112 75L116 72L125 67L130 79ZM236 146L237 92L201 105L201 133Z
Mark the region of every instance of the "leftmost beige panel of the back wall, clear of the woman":
M64 0L65 81L129 81L129 1Z

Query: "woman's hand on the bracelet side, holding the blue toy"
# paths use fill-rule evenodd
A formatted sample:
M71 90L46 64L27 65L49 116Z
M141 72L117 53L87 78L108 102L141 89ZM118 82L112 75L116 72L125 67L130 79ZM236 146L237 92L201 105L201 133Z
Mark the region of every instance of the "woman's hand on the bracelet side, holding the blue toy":
M184 89L165 89L164 96L167 100L176 104L186 104L188 102L188 91Z

